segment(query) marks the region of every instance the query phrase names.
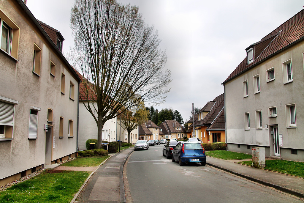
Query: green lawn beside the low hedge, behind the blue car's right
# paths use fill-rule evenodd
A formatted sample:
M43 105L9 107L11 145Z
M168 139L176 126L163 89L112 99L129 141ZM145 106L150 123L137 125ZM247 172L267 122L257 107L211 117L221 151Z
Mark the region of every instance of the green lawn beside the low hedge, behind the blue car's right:
M232 159L252 159L252 155L243 154L238 152L230 152L225 150L215 150L205 152L207 156L212 156L219 159L232 160Z

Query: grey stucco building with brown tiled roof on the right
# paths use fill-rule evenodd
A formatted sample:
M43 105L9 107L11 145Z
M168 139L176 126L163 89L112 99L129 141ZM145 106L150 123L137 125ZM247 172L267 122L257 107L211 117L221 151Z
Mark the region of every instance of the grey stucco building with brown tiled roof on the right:
M245 49L223 82L229 151L304 161L304 10Z

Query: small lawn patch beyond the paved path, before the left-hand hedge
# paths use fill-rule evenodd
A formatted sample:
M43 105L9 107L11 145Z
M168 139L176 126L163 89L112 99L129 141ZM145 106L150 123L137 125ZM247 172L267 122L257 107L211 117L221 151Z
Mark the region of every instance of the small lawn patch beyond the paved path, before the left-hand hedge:
M88 156L88 157L77 157L71 161L61 164L60 166L88 166L95 167L99 166L105 159L110 156Z

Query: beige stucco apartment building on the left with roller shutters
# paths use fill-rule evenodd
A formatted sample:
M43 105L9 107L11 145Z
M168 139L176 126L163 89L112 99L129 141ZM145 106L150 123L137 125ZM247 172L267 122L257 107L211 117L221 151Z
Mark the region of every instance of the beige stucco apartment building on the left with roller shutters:
M61 53L60 32L39 22L25 2L0 2L0 29L4 185L76 155L80 78Z

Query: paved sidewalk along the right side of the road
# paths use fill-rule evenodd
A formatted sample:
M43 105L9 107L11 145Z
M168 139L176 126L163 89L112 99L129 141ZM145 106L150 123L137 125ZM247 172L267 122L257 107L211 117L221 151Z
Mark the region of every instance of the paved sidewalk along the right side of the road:
M223 160L207 156L207 165L233 173L254 182L304 198L304 179L269 170L238 164L243 160Z

